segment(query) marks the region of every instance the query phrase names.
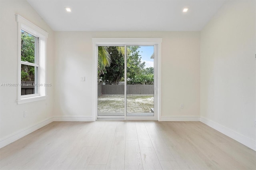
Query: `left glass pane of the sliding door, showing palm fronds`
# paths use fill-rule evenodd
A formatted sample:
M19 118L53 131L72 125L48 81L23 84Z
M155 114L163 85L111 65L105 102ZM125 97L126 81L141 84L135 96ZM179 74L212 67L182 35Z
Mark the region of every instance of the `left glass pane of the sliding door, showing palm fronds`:
M98 47L98 116L124 116L124 47Z

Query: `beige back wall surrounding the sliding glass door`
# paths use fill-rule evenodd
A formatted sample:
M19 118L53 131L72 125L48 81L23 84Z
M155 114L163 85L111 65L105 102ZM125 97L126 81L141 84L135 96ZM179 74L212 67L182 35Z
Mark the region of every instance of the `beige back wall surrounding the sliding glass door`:
M56 32L56 117L95 114L92 38L162 38L162 116L200 116L200 32Z

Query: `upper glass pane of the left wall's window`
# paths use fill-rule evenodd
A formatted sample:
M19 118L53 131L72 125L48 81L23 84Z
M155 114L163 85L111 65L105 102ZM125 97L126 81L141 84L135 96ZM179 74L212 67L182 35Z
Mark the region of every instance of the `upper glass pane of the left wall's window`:
M36 37L21 30L21 61L36 63Z

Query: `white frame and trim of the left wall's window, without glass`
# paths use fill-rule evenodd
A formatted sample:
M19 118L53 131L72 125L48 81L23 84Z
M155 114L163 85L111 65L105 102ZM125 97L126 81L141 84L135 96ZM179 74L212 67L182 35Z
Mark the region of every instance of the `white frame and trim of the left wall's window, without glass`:
M39 101L46 99L46 42L48 38L48 33L39 28L38 26L32 24L22 16L16 14L17 30L18 30L18 104L29 103L33 101ZM28 63L26 61L21 61L21 30L35 36L36 41L36 63ZM31 95L21 95L21 65L31 65L38 67L38 76L35 82L38 85L38 91L35 90L36 94Z

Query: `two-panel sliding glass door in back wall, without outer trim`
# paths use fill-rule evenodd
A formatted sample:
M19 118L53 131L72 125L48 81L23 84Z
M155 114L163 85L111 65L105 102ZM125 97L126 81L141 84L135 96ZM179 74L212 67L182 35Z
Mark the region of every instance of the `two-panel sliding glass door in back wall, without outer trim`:
M98 119L154 116L154 45L98 46Z

